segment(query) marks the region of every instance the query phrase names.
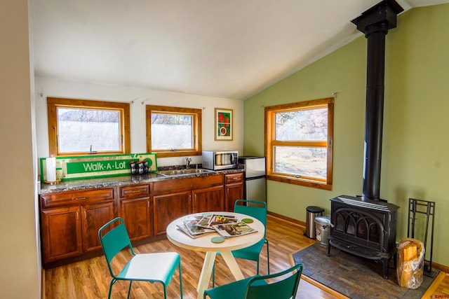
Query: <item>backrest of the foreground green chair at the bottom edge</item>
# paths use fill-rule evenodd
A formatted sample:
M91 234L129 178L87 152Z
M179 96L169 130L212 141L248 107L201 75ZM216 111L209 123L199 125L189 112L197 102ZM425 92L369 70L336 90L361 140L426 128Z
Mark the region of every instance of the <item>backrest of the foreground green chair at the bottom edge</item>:
M296 272L280 281L275 281L271 284L260 284L262 280L273 277L281 277L288 274L288 272L293 271ZM297 264L287 270L284 270L283 272L253 277L250 281L248 281L245 299L294 299L297 288L300 284L301 273L302 264Z

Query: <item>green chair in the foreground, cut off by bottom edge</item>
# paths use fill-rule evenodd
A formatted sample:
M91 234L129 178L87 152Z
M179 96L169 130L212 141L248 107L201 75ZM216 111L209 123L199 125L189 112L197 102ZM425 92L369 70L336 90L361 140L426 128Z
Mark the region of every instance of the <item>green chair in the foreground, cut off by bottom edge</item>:
M295 299L301 273L302 264L297 264L276 274L256 275L223 286L209 288L204 291L203 297L204 299L207 296L210 299Z

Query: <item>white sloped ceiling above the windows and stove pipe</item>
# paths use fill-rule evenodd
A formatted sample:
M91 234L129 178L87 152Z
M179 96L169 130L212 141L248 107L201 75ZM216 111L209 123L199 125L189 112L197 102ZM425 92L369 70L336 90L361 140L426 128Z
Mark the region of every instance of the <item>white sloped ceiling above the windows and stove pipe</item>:
M29 0L34 73L246 99L359 36L379 1Z

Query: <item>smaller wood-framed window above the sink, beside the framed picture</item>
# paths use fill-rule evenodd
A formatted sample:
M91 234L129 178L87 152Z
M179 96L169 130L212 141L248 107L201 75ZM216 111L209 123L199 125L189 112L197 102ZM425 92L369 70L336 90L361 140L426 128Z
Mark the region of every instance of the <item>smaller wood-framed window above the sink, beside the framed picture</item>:
M201 109L147 105L147 151L158 157L201 155Z

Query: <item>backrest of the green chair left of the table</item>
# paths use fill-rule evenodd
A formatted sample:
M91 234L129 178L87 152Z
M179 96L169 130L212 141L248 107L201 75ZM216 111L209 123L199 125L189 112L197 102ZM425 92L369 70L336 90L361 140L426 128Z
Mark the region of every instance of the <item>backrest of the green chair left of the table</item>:
M116 226L113 227L113 225ZM111 228L111 230L107 231L103 235L103 230L108 230L109 228ZM98 237L100 238L101 246L106 256L109 271L112 276L115 277L111 267L111 261L114 256L116 256L117 253L125 249L127 246L130 248L133 255L135 255L123 219L117 217L103 225L98 230Z

